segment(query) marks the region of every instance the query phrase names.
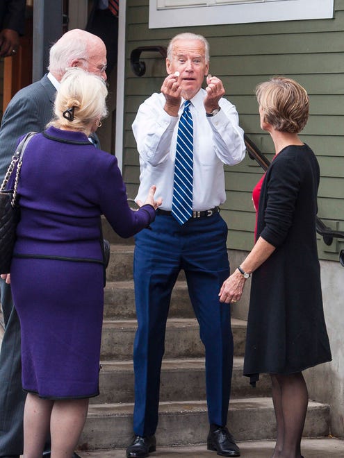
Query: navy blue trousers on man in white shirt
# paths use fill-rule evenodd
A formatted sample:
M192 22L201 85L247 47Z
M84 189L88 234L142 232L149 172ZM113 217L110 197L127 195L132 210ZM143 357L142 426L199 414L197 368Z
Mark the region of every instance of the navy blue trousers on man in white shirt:
M186 273L190 300L206 354L206 398L209 423L226 425L233 366L229 305L220 303L222 282L229 276L227 224L214 214L185 225L157 215L151 230L136 235L134 281L138 330L135 371L135 434L154 434L158 424L161 360L172 288L179 271Z

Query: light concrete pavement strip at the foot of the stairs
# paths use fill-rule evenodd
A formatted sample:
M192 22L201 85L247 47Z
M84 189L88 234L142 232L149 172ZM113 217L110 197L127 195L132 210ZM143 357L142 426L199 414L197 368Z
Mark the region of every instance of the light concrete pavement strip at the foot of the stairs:
M272 455L275 441L238 442L242 458L267 458ZM302 439L301 450L304 458L343 458L344 441L335 437ZM125 448L120 450L78 451L81 458L124 458ZM149 455L151 458L215 458L215 452L206 450L205 444L183 447L161 447Z

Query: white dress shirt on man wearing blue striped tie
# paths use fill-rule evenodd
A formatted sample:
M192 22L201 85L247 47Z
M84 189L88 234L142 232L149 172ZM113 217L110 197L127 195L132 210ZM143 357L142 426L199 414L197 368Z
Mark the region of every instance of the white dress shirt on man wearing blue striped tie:
M193 210L202 211L226 200L223 164L234 165L245 158L243 129L238 125L236 108L220 99L220 112L206 117L204 89L191 99L193 116ZM152 94L133 121L133 135L140 154L140 187L136 200L147 197L149 187L156 185L156 198L163 198L163 210L172 208L174 158L179 117L164 110L165 96Z

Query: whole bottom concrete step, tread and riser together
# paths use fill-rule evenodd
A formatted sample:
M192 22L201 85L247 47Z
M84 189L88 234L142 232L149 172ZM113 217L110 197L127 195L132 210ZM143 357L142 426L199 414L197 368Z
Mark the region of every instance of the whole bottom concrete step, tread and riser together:
M90 405L80 450L125 448L131 441L133 404ZM237 441L275 439L275 414L270 398L231 400L229 430ZM206 441L208 416L203 401L161 402L156 430L158 446L181 446ZM309 402L304 436L329 434L329 406ZM327 456L327 455L325 455Z

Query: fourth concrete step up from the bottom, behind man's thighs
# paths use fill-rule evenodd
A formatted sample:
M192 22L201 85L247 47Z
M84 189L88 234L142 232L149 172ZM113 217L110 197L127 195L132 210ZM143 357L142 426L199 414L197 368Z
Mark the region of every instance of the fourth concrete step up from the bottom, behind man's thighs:
M105 319L136 318L133 280L106 282L104 290ZM194 318L186 282L178 281L172 291L170 317Z

